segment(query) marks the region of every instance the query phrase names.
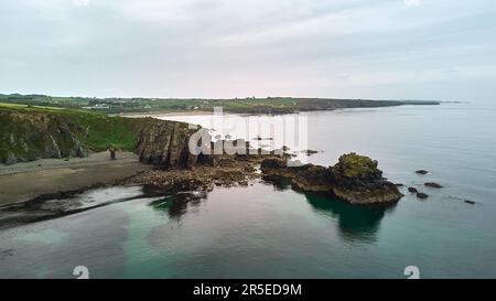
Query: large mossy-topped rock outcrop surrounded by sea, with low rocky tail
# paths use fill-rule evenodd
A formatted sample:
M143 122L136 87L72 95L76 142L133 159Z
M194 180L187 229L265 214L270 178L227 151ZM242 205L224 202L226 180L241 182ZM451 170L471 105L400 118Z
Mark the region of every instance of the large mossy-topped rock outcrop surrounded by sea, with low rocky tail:
M342 155L331 168L288 166L283 159L267 159L260 169L266 180L290 180L296 190L330 192L352 204L391 203L403 196L393 183L382 178L377 161L356 153Z

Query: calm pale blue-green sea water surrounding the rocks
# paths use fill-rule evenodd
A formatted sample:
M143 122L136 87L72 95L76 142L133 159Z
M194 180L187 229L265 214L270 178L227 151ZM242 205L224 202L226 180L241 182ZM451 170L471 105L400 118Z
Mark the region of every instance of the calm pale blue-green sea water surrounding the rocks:
M163 118L213 123L212 116ZM224 122L242 137L248 118ZM0 278L76 278L76 266L90 278L407 278L407 266L421 278L496 277L496 106L316 111L304 121L304 147L320 152L296 159L331 165L342 153L369 155L406 196L363 207L260 181L204 197L129 201L126 190L136 196L140 187L97 190L89 194L109 205L1 229ZM252 142L287 142L274 138ZM407 186L430 197L419 201Z

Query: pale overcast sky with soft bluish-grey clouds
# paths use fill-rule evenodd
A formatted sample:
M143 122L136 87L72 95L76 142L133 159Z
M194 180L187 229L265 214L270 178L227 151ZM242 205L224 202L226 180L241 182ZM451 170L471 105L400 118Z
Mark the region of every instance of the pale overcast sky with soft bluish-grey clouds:
M0 93L489 100L494 0L0 0Z

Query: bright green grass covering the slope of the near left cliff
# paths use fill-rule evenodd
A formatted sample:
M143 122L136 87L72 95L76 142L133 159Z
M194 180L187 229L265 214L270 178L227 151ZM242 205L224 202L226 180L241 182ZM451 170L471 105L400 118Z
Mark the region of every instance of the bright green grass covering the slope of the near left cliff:
M61 128L68 128L87 150L105 151L112 146L132 151L138 127L138 119L110 117L101 112L0 103L0 161L4 161L9 153L25 160L40 158L47 143L46 132L61 138ZM24 143L12 143L12 137L14 141ZM71 146L71 140L58 140L61 150Z

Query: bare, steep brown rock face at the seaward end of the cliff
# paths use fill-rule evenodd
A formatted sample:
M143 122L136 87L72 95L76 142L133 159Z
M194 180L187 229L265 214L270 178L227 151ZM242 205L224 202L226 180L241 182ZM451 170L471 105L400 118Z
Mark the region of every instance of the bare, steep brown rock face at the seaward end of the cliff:
M136 153L140 162L160 169L187 168L198 158L190 152L190 137L196 132L184 122L144 118L141 122Z

